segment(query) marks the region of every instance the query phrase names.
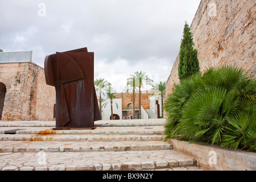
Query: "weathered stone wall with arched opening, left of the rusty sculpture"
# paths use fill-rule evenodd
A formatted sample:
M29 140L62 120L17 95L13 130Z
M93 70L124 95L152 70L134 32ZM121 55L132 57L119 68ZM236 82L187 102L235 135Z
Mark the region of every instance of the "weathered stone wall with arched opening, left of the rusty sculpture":
M55 88L46 85L42 67L0 64L0 82L6 86L2 121L53 120Z

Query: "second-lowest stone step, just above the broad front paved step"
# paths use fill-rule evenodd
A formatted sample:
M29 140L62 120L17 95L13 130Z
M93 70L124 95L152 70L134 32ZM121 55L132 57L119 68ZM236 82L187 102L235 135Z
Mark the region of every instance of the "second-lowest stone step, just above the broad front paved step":
M164 142L0 142L0 152L106 152L171 150Z

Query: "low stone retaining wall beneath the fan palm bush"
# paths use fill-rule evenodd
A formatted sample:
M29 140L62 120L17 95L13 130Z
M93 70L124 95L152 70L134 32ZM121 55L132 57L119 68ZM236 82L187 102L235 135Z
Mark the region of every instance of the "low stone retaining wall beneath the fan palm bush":
M197 160L197 166L209 171L256 171L256 153L229 150L205 143L168 140L174 150Z

